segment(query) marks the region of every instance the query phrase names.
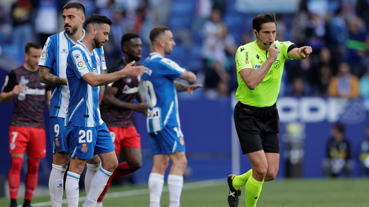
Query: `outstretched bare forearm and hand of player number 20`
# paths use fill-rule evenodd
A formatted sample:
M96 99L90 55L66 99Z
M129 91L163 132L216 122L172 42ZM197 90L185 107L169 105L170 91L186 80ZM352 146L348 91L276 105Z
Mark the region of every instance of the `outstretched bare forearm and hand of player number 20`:
M144 71L144 66L133 66L135 61L132 61L124 67L124 69L115 71L114 73L95 75L94 72L86 73L82 79L92 87L107 85L123 77L132 77L141 75Z

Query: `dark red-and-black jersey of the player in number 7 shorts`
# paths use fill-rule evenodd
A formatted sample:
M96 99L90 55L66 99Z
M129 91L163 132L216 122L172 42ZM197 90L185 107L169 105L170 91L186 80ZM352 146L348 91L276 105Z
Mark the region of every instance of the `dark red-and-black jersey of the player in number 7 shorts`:
M23 76L28 83L25 86L25 99L20 101L14 97L13 116L11 117L11 125L25 126L35 128L45 128L44 106L45 93L51 90L51 87L40 83L38 79L38 71L29 71L21 66L11 70L5 78L2 91L10 92L15 85L19 84Z

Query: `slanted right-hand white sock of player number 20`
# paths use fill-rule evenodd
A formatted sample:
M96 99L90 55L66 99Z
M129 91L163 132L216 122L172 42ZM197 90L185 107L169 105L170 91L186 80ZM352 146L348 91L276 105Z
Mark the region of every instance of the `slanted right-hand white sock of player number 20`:
M96 205L97 199L101 192L103 192L106 183L112 174L112 172L103 169L103 167L99 168L95 173L95 176L93 176L91 188L89 194L86 196L85 203L82 205L83 207L94 207Z

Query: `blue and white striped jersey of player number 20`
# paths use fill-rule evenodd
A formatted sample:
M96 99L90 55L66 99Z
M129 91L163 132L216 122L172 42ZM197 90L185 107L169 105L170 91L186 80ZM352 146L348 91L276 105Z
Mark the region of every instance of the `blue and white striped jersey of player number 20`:
M79 41L70 49L66 69L70 96L65 126L72 123L73 126L96 127L104 123L99 109L100 87L92 87L82 79L87 73L93 71L100 75L104 70L101 50L96 48L91 54Z

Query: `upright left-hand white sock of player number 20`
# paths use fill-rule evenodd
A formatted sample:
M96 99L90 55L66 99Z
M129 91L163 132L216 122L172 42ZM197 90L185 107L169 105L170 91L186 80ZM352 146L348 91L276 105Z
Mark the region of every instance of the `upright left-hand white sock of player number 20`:
M67 196L68 207L78 207L80 176L81 175L74 172L67 172L67 179L65 181L65 194Z

